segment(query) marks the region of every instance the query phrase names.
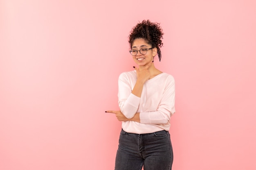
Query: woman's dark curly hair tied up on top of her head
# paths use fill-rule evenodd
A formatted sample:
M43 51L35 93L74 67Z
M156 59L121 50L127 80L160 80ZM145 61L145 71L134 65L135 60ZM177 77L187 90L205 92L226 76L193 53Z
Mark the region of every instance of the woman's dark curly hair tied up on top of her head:
M129 44L132 48L133 41L137 38L144 39L148 44L152 45L152 48L157 48L157 55L159 61L161 61L161 50L163 46L162 40L164 33L159 23L150 22L150 20L143 20L132 28L129 35Z

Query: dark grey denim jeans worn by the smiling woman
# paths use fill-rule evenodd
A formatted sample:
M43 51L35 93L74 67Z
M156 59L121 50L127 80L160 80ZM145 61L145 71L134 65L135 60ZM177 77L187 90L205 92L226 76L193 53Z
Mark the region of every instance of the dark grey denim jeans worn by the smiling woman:
M168 131L135 134L121 130L115 170L171 170L173 148Z

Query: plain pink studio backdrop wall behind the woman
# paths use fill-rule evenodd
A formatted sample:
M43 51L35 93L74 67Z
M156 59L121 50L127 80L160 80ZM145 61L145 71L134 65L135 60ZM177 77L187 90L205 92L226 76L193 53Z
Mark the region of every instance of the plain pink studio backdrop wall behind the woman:
M160 22L173 170L256 169L256 1L0 0L0 169L113 170L128 35Z

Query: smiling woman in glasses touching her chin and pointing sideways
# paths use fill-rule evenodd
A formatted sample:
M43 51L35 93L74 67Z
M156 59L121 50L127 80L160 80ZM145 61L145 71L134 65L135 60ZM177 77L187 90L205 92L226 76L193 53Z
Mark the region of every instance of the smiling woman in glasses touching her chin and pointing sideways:
M170 74L154 65L161 60L162 28L143 20L129 35L130 54L137 67L123 72L118 80L122 121L115 170L171 170L173 149L169 134L170 118L175 113L175 83Z

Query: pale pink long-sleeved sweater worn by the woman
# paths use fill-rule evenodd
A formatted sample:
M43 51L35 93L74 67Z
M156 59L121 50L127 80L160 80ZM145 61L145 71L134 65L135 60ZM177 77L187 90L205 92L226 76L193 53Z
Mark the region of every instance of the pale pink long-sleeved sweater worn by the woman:
M144 83L141 97L132 94L137 81L136 71L123 72L118 80L118 104L126 118L140 113L140 123L122 122L128 133L153 133L170 130L170 118L175 113L175 81L173 76L161 73Z

